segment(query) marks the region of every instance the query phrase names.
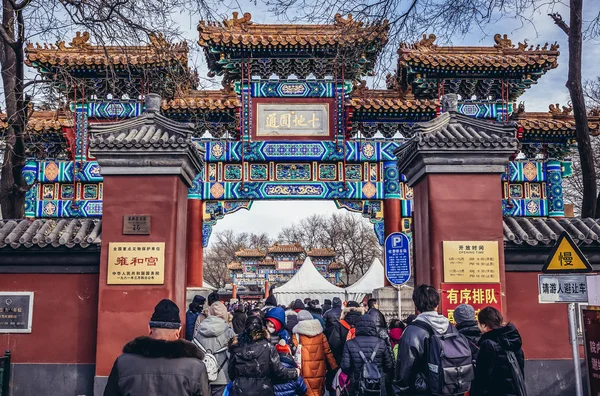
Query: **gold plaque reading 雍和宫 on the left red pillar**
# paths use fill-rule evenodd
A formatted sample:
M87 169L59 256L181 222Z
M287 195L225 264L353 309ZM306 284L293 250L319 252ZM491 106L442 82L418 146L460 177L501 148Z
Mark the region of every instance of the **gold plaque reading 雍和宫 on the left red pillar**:
M164 242L110 242L109 285L162 285L165 283Z

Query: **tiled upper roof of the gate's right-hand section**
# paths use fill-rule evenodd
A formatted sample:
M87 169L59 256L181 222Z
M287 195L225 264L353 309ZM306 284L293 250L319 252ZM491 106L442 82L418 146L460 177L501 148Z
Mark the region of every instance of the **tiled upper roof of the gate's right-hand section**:
M515 46L506 35L494 36L496 44L488 47L442 47L434 44L435 35L424 35L418 43L402 43L398 50L399 68L424 67L429 70L549 70L558 66L558 44L528 48L527 43Z

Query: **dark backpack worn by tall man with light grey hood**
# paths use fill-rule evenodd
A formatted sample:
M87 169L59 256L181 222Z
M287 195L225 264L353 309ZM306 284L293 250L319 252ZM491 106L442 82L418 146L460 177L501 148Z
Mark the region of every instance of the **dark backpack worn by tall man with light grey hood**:
M425 381L432 395L462 395L475 378L469 341L452 324L439 334L429 323L415 320L413 326L427 330L425 342Z

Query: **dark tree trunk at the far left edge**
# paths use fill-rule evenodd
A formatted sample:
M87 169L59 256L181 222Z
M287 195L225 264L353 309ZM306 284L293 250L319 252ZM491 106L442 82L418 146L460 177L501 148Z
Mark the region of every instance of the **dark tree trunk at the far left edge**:
M24 51L22 37L18 34L20 32L15 32L15 12L8 0L2 3L2 24L8 36L14 38L15 44L11 45L3 39L0 57L8 122L0 179L0 208L2 217L15 219L25 215L25 194L28 189L23 177L26 124L23 94Z

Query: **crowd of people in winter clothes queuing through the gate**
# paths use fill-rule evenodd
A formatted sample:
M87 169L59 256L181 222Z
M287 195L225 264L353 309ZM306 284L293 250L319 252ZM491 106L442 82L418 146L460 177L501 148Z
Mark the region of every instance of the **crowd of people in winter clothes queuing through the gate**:
M195 296L181 339L179 309L158 303L149 335L123 348L105 396L525 396L524 354L493 307L438 313L440 296L415 288L418 315L388 324L375 299L223 303Z

